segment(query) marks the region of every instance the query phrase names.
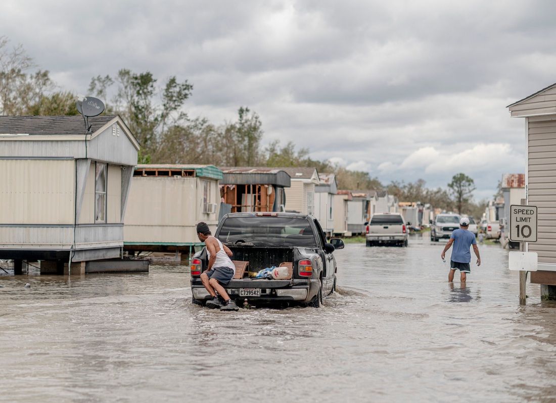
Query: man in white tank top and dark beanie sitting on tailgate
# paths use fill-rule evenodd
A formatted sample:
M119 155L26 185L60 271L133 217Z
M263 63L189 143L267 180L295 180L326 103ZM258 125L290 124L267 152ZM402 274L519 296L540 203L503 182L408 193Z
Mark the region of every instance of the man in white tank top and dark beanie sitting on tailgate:
M201 242L205 242L209 255L209 267L201 274L201 281L206 290L209 291L211 299L206 302L206 306L211 309L220 308L221 311L237 311L238 307L222 287L234 277L236 267L231 261L232 251L229 247L222 245L211 235L210 228L205 222L197 224L197 237ZM224 304L216 293L224 300Z

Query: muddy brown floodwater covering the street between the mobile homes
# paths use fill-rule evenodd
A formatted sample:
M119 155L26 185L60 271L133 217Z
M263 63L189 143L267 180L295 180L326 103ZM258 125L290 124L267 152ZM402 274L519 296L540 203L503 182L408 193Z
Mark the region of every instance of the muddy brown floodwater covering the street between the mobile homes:
M320 309L191 304L187 266L0 275L0 401L548 402L556 305L480 245L450 285L443 242L346 245ZM29 283L31 288L24 288Z

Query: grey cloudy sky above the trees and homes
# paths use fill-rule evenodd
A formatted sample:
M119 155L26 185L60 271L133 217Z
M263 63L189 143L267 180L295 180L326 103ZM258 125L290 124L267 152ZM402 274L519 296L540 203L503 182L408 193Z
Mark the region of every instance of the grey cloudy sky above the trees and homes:
M510 103L556 82L556 2L484 0L6 0L0 36L64 90L127 68L193 84L185 110L220 124L248 106L263 142L384 184L475 200L524 172ZM195 161L187 161L195 162Z

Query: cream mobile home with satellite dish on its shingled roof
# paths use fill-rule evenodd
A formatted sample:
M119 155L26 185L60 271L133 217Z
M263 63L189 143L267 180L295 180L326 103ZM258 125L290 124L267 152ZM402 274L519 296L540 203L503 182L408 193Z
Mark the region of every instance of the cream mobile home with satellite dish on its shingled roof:
M87 261L120 256L139 145L119 116L88 123L0 117L0 258L85 272Z

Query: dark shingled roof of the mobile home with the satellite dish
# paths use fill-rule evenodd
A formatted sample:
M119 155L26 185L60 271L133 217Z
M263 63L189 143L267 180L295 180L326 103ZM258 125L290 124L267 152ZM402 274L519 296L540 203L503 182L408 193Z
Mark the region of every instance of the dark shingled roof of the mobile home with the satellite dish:
M95 133L117 115L90 117L88 123ZM0 116L0 134L79 135L87 128L83 116Z

